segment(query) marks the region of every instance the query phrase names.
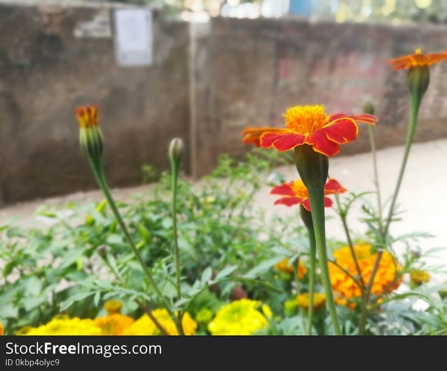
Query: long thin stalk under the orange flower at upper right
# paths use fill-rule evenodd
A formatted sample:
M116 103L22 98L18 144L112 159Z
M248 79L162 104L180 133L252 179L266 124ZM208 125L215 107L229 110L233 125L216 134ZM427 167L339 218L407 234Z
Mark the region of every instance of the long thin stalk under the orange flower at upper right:
M412 92L411 100L410 100L410 118L409 118L409 122L408 122L408 132L407 132L407 139L406 139L406 143L405 143L405 151L404 151L404 155L403 155L403 159L402 159L402 164L401 164L400 170L399 170L399 175L397 177L396 188L394 190L393 198L391 200L390 211L388 212L386 225L385 225L385 228L384 228L384 231L382 234L382 236L384 238L384 240L383 240L384 244L385 244L385 240L387 238L387 235L388 235L388 232L390 229L391 220L393 218L394 207L396 205L397 196L399 194L400 185L402 183L403 175L404 175L406 164L408 161L408 156L410 154L411 144L413 142L414 130L416 129L416 123L418 122L418 113L419 113L419 107L421 106L421 101L422 101L422 94L420 94L418 91ZM372 284L374 282L374 277L377 273L377 269L379 267L382 255L383 255L382 251L378 252L377 258L374 262L374 267L371 272L371 277L368 282L368 286L366 287L366 290L365 290L364 305L362 307L362 314L360 316L360 322L359 322L359 335L363 335L365 332L366 320L368 317L368 304L369 304L369 299L371 296L371 288L372 288Z

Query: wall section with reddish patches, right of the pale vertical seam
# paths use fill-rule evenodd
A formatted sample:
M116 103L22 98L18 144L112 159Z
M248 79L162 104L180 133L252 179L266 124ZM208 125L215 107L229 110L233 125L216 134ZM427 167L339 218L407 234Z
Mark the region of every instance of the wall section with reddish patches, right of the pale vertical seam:
M194 168L209 171L219 153L247 148L247 126L283 126L282 114L295 105L323 104L330 113L360 113L366 99L376 106L378 147L405 142L408 117L406 71L393 72L387 60L447 49L445 26L312 24L299 19L215 19L198 33L192 122L197 132ZM204 58L207 55L207 58ZM415 139L447 136L447 63L431 67ZM359 139L342 154L370 150L364 124ZM362 128L363 126L363 128Z

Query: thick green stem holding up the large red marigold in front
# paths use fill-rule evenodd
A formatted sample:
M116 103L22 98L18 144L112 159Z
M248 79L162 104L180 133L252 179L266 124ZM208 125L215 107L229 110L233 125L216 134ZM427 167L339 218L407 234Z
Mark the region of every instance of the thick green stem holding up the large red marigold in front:
M315 232L315 245L316 250L318 251L318 261L320 261L322 281L326 292L326 302L331 314L334 332L336 335L341 335L340 326L338 325L337 312L335 311L334 296L332 295L328 268L328 256L326 252L324 188L308 188L308 192L310 209L312 212L313 229Z

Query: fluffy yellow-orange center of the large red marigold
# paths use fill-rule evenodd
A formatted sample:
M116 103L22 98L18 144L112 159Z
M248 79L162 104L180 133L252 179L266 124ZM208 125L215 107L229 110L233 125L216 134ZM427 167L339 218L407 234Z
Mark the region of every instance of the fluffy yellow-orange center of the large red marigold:
M308 134L326 125L323 106L296 106L289 108L284 115L285 126L298 134Z

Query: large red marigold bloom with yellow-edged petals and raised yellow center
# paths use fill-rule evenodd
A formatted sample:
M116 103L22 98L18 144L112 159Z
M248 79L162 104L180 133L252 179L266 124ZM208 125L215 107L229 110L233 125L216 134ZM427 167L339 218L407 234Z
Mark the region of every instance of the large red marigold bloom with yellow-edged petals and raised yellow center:
M264 148L273 147L288 151L302 144L332 157L340 152L339 144L357 139L358 122L374 125L377 117L370 114L348 116L337 113L327 116L323 106L296 106L284 115L286 129L247 128L242 132L243 143L253 143Z

